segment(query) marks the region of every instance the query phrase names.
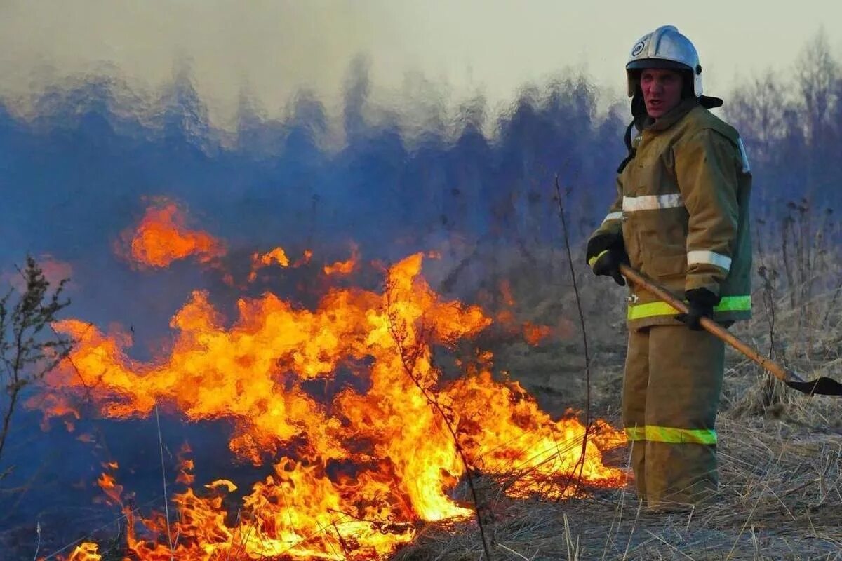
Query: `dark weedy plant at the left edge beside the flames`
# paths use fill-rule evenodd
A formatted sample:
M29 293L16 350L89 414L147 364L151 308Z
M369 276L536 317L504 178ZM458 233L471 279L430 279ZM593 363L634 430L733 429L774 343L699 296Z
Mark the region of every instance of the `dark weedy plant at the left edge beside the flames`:
M56 315L70 304L61 294L67 283L62 279L50 292L50 282L33 257L26 257L26 267L20 271L24 285L17 293L14 288L0 298L0 459L9 434L9 424L21 392L29 384L44 378L70 353L72 340L56 335L50 324ZM10 468L9 468L10 469ZM0 471L0 479L9 469Z

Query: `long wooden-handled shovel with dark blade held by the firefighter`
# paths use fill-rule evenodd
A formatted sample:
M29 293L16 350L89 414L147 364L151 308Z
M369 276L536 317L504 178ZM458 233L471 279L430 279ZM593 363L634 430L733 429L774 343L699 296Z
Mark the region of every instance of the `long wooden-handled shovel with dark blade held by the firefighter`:
M650 293L657 296L658 299L661 299L671 305L675 308L675 310L679 310L680 313L687 313L687 304L685 304L684 300L679 299L666 288L658 286L658 284L644 277L641 273L632 269L632 267L629 267L626 264L621 264L620 273L622 273L629 282L641 286L642 288L646 288ZM733 335L730 331L727 331L724 327L722 327L722 325L719 325L716 321L711 320L711 318L702 317L699 323L701 323L701 326L705 328L705 331L708 331L711 335L716 336L718 339L726 342L739 352L742 352L746 357L749 357L755 363L758 363L760 368L763 368L766 372L775 376L775 378L778 378L790 388L797 389L804 394L810 395L842 395L842 384L839 384L836 380L822 376L821 378L816 378L807 382L804 378L799 376L797 373L792 372L789 368L784 368L780 364L762 356L757 349L751 347L748 343L742 341L738 336Z

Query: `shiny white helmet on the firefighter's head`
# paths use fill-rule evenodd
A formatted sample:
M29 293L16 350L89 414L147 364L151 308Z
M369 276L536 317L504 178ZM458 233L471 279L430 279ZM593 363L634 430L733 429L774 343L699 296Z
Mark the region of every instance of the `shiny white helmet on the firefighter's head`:
M692 72L693 93L701 97L701 66L699 53L685 35L674 25L662 25L652 33L643 35L632 47L626 63L628 93L632 98L637 91L637 72L642 68L671 68ZM634 75L634 76L633 76Z

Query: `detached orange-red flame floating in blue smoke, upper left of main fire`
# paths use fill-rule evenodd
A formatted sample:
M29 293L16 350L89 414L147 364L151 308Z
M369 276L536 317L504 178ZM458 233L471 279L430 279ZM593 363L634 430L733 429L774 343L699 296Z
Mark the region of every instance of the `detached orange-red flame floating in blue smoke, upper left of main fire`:
M225 255L221 242L205 231L189 230L184 213L163 200L147 209L135 230L124 232L128 257L147 267L168 267L172 262L195 256L207 263Z

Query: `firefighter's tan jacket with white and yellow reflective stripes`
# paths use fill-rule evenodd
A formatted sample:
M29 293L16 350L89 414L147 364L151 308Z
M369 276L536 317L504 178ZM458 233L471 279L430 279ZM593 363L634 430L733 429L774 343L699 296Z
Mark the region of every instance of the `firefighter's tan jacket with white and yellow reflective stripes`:
M617 175L617 198L589 241L590 263L624 247L633 268L683 296L721 297L718 321L751 315L749 161L736 130L695 99L643 127ZM674 324L678 312L631 287L630 327Z

